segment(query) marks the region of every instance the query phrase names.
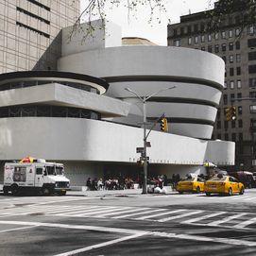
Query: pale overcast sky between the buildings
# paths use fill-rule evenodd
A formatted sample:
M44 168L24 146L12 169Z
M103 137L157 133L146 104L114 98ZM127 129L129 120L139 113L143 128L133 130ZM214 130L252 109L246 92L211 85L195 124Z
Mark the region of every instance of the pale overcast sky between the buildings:
M121 0L126 2L126 0ZM86 2L81 0L81 3ZM132 14L128 21L128 10L125 8L108 9L107 19L122 27L123 37L141 37L153 43L167 45L167 24L168 19L171 24L179 22L179 16L198 11L213 9L214 0L164 0L166 13L162 12L161 24L156 19L158 11L155 11L155 19L152 24L148 24L149 10L139 9L136 17ZM81 9L83 5L81 6Z

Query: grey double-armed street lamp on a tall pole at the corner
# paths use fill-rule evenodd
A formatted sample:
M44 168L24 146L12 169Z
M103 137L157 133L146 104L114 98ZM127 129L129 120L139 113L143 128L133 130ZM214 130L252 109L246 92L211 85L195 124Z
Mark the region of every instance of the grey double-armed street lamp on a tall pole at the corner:
M166 91L166 90L170 90L170 89L174 89L176 88L176 86L172 86L172 87L169 87L169 88L165 88L165 89L162 89L154 94L150 94L148 96L140 96L139 94L137 94L135 91L129 89L128 87L125 88L126 91L128 91L129 93L131 94L134 94L136 95L143 103L143 127L144 127L144 151L143 151L143 159L144 159L144 183L143 183L143 194L146 194L147 193L147 188L146 188L146 184L147 184L147 159L146 159L146 138L150 132L147 133L146 135L146 110L145 110L145 102L151 98L152 96L156 95L156 94L160 94L161 92L163 91Z

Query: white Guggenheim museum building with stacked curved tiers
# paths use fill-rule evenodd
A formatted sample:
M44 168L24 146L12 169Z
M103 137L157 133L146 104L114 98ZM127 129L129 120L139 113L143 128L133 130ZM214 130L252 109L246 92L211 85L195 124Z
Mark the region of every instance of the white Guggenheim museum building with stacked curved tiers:
M143 172L136 148L144 146L142 98L148 96L149 175L182 177L205 173L204 162L234 164L234 143L211 140L223 60L140 38L122 40L121 28L110 22L94 26L85 41L78 31L69 40L73 27L62 29L57 70L0 75L1 165L26 156L63 162L72 185L88 177L135 178ZM162 114L167 132L154 125Z

